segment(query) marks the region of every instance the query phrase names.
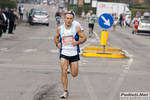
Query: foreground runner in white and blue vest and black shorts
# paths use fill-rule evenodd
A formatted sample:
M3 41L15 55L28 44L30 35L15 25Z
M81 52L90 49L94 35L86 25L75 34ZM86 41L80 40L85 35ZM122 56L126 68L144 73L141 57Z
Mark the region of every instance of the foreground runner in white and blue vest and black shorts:
M82 32L81 28L72 24L73 20L74 15L71 11L65 13L65 24L57 28L57 32L54 37L56 47L60 49L60 62L62 69L61 80L64 89L64 93L61 95L61 98L66 98L69 95L67 78L68 65L70 65L72 76L76 77L78 75L78 61L80 60L79 44L86 41L86 36Z

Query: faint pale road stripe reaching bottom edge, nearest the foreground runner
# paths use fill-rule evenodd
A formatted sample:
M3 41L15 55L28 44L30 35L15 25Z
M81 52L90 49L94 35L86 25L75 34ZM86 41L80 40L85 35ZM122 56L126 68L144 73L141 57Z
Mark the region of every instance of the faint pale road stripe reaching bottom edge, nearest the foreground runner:
M92 85L90 84L90 81L89 81L87 75L82 75L82 77L83 77L84 83L87 87L88 93L91 97L91 100L98 100L98 98L97 98L97 96L96 96L96 94L92 88Z

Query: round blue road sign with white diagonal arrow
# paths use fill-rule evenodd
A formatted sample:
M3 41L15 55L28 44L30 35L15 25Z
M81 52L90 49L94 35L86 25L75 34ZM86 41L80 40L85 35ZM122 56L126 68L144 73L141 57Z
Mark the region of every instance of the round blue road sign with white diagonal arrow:
M99 17L98 23L103 29L108 29L113 25L114 19L110 14L104 13Z

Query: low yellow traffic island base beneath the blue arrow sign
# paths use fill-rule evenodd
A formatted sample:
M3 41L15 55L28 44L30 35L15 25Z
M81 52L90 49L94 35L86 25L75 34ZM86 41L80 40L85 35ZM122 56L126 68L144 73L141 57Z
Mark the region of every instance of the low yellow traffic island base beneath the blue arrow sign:
M82 55L87 57L125 58L125 53L118 47L87 46Z

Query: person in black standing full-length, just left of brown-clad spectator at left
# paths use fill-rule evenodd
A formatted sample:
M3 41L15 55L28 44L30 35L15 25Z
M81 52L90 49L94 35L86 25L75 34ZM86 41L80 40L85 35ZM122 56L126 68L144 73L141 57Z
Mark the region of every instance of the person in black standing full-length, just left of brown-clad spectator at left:
M14 14L14 9L11 8L11 10L9 11L9 31L8 31L9 34L14 34L13 27L14 27L15 17L16 15Z

